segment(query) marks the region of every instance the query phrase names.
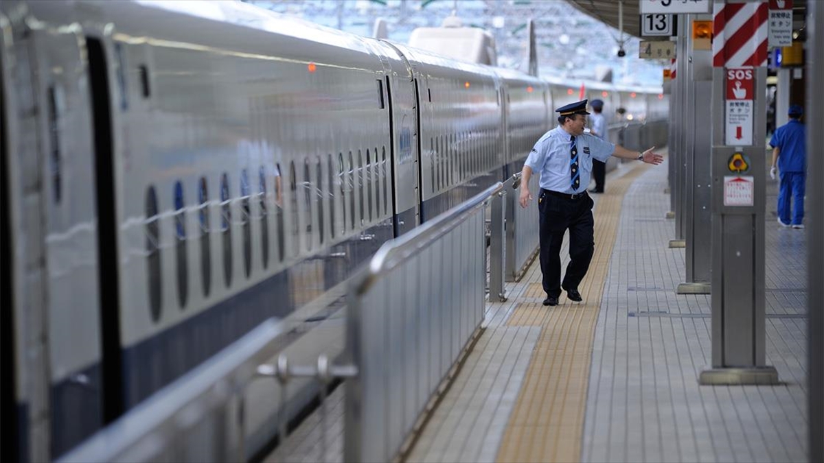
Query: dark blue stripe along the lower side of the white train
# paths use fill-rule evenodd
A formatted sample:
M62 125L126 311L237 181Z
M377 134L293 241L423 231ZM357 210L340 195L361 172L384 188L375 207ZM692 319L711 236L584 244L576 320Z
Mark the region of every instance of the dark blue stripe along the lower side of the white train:
M410 213L414 223L414 208L405 211L402 216ZM363 235L374 236L368 240L361 240L361 235L353 236L349 241L326 250L323 255L302 260L178 325L124 348L126 409L133 408L155 391L213 357L263 320L272 316L283 318L295 311L297 304L289 290L289 283L295 280L295 275L304 273L307 266L322 265L324 290L349 278L384 242L391 240L392 222L387 219L378 223L364 231ZM100 404L104 391L101 391L100 376L100 365L96 363L73 372L52 386L53 456L71 450L101 428ZM69 378L77 377L84 377L87 381L69 381Z

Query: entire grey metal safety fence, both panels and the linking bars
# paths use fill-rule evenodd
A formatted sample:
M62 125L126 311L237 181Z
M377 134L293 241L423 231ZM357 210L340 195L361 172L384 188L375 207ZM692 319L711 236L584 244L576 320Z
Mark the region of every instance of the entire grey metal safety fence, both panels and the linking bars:
M247 461L246 415L255 404L247 404L246 395L267 378L279 400L279 442L288 437L286 391L313 378L321 394L317 445L326 456L325 394L332 381L347 379L345 460L391 461L480 333L485 292L490 299L504 297L504 194L519 178L493 185L378 250L349 289L345 365L325 355L312 365L291 364L282 353L288 325L266 320L59 461Z

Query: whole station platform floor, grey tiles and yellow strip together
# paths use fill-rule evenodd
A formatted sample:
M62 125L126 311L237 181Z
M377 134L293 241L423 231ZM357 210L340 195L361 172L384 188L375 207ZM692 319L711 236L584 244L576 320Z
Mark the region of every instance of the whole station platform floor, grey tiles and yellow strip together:
M666 164L607 176L584 302L564 293L541 306L537 261L508 283L407 461L808 460L805 233L778 226L770 182L766 360L781 385L699 386L710 297L676 293L685 251L668 246L666 186ZM326 461L343 459L342 394L330 397ZM267 461L320 459L319 423L312 416Z

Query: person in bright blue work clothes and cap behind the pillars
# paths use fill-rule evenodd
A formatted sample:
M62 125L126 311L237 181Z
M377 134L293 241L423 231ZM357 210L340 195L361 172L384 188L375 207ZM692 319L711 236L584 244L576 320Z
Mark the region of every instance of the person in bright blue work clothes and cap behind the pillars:
M803 108L789 107L789 122L775 129L770 146L773 162L770 177L775 180L775 161L778 161L780 187L778 192L778 222L782 227L803 228L804 189L807 181L807 132L801 123ZM790 217L789 199L792 195L794 208Z

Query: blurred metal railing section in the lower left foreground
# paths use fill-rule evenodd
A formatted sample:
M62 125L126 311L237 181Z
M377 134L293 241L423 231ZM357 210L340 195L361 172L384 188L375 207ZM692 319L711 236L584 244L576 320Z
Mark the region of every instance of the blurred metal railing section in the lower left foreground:
M260 324L59 461L243 461L243 391L274 357L283 325Z

